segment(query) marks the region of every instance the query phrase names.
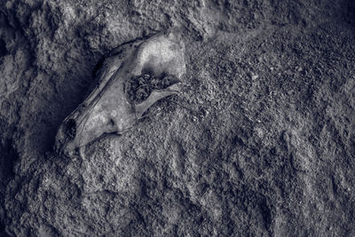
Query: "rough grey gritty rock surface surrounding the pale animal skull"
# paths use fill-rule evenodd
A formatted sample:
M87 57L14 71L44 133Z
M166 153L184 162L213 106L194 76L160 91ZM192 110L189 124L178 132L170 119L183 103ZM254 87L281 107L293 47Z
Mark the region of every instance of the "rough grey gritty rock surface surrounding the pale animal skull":
M52 152L100 59L172 27L183 91ZM354 36L352 0L1 1L0 234L355 235Z

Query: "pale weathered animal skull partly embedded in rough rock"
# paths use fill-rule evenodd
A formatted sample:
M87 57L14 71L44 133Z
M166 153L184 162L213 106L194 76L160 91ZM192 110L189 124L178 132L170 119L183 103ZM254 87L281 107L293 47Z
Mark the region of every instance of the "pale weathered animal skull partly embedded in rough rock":
M99 69L99 83L90 96L67 116L56 136L57 151L81 150L104 133L122 134L130 129L157 100L179 91L179 83L155 90L141 103L128 99L127 85L145 72L157 78L185 74L184 44L172 32L117 47Z

